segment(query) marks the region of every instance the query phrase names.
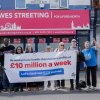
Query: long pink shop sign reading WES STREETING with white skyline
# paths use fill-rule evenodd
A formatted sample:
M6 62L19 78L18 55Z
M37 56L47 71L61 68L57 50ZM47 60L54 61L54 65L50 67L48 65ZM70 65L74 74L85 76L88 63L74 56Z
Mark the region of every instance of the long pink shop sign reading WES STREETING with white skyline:
M75 35L89 29L89 10L0 11L0 36Z

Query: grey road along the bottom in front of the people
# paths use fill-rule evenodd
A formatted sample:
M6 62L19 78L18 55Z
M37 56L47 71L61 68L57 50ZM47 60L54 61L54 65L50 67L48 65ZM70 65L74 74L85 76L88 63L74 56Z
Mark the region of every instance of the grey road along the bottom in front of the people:
M98 92L52 92L2 94L0 100L100 100Z

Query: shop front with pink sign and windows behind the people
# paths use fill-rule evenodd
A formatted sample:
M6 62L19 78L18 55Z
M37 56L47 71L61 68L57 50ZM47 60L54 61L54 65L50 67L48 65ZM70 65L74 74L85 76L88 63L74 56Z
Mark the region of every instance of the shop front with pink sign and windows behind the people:
M89 37L89 10L5 10L0 11L0 45L8 37L15 47L32 44L34 51L54 50L63 41L65 48L72 38ZM82 33L83 32L83 33ZM82 34L82 35L80 35Z

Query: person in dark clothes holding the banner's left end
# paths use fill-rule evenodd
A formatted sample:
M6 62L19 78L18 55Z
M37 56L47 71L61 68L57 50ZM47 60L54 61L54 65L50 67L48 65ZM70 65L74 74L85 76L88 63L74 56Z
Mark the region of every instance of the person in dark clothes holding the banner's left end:
M2 52L1 66L3 67L3 80L2 80L3 91L6 92L8 87L10 88L10 91L13 91L13 88L14 88L13 83L9 83L6 73L5 73L6 69L4 69L4 54L14 53L15 47L13 45L10 45L10 41L8 38L4 38L4 45L0 48L0 51Z

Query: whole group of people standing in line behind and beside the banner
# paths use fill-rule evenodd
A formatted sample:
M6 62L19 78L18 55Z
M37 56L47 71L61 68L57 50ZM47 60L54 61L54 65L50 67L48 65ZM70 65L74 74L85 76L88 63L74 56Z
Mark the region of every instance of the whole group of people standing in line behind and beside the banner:
M100 45L96 42L96 40L93 40L94 46L90 45L89 41L86 41L84 43L84 49L81 50L77 46L76 39L71 40L71 45L68 48L65 48L65 44L63 42L60 42L58 47L54 50L54 52L60 52L60 51L67 51L67 50L73 50L77 53L77 65L76 65L76 80L74 85L74 80L70 79L70 90L74 90L75 88L80 90L80 83L79 83L79 72L80 72L80 64L81 62L84 63L84 67L86 67L86 76L87 76L87 89L93 89L96 90L97 85L97 76L96 76L96 69L97 69L97 58L96 58L96 50L100 48ZM51 52L52 49L50 46L47 46L45 49L45 52ZM9 83L9 80L6 76L5 69L4 69L4 54L5 53L14 53L14 54L21 54L23 53L23 48L21 46L18 46L15 48L13 45L9 44L9 39L4 39L4 46L0 48L0 62L3 69L2 74L2 86L3 91L7 91L9 88L10 91L23 91L24 83ZM29 44L26 47L25 53L34 53L34 50L32 48L32 45ZM91 78L90 78L91 75ZM44 81L44 90L48 89L48 83L50 85L51 90L59 89L59 88L65 88L65 80L52 80L50 82ZM28 83L28 90L31 91L32 89L32 83ZM36 82L36 85L39 86L38 82Z

